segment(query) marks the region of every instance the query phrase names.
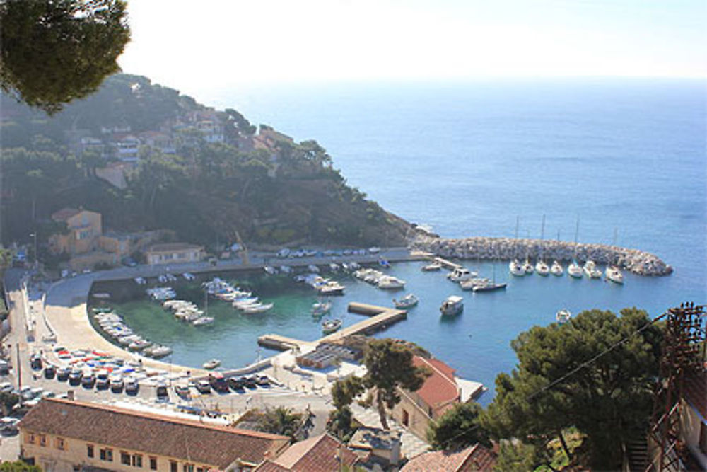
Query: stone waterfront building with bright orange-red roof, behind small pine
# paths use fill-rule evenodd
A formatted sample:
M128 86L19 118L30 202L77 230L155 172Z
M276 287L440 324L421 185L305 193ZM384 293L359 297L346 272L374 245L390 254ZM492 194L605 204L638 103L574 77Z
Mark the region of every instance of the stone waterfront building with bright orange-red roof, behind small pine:
M455 379L455 370L438 359L414 356L415 367L425 367L430 376L418 391L400 389L400 403L392 417L418 437L426 437L427 425L462 401L462 389Z

